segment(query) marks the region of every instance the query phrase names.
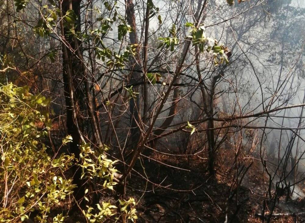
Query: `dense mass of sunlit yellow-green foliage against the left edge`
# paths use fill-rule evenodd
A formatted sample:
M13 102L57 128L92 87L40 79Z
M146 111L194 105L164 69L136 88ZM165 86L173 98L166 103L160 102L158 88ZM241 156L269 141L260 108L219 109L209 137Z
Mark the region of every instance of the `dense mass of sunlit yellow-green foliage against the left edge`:
M51 123L46 109L50 99L13 84L0 87L0 99L0 222L24 221L34 210L36 220L46 222L50 209L73 191L62 172L74 157L51 159L40 141L46 131L37 126L47 129Z

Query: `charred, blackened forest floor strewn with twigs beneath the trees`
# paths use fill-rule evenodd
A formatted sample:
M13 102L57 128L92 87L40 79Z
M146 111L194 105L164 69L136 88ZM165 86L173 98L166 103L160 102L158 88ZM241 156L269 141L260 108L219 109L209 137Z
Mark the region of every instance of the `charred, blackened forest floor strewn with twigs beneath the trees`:
M262 222L256 214L262 211L265 192L260 185L263 181L267 185L267 178L262 179L260 161L249 159L244 163L253 165L236 190L232 186L231 162L226 162L234 157L230 153L220 157L225 159L217 166L216 179L208 175L206 159L198 156L188 159L154 153L143 158L135 167L138 173L127 185L127 196L138 201L138 222ZM273 213L303 211L302 200L281 202L283 199ZM305 222L305 218L271 218L271 222Z

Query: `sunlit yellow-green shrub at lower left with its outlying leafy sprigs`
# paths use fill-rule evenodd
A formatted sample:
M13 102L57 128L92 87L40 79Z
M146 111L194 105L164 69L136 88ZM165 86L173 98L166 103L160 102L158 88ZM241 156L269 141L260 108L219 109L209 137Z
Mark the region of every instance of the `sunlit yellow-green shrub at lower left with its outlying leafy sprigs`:
M50 99L32 95L29 88L13 84L0 87L0 222L19 222L33 219L47 222L52 208L66 200L76 187L72 179L66 179L64 172L78 163L82 169L81 178L99 179L100 189L113 190L114 161L107 159L103 151L92 151L90 144L83 143L80 162L73 155L61 154L51 158L46 153L42 138L51 128L47 107ZM38 128L39 127L39 128ZM71 137L63 139L63 145ZM84 199L88 201L88 189ZM135 201L119 200L120 210L134 221L137 218ZM84 216L90 222L103 222L108 217L120 214L109 202L87 206ZM31 216L35 211L35 216ZM33 215L33 214L32 214ZM57 214L53 222L63 222L67 216Z

